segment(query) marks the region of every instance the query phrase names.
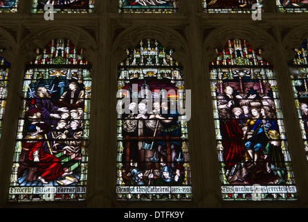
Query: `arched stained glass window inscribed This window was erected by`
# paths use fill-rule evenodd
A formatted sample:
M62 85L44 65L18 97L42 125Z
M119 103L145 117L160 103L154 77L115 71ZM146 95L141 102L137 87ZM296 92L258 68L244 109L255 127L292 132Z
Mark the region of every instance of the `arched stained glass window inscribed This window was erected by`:
M231 39L210 63L224 200L293 200L297 190L271 62Z

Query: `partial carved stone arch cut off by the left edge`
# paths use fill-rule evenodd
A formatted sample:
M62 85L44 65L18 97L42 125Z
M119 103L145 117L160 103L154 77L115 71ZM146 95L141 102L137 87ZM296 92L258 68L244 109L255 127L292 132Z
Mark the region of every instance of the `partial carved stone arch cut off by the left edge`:
M5 48L6 51L0 52L0 55L3 56L6 61L12 62L18 46L15 38L4 28L0 28L0 49L1 48Z

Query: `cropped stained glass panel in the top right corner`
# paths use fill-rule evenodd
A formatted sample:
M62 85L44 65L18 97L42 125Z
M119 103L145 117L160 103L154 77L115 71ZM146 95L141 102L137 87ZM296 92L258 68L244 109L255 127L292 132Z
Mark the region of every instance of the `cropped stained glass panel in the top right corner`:
M308 12L307 0L276 0L279 12Z

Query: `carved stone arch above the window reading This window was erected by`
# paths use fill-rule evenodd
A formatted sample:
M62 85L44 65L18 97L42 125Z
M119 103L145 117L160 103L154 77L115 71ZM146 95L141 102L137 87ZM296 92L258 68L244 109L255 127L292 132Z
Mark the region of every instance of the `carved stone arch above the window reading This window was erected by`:
M226 41L233 38L244 39L253 49L263 49L262 58L274 62L279 49L275 38L264 29L253 25L226 25L211 31L203 41L203 51L208 62L214 60L217 54L213 49L224 49Z

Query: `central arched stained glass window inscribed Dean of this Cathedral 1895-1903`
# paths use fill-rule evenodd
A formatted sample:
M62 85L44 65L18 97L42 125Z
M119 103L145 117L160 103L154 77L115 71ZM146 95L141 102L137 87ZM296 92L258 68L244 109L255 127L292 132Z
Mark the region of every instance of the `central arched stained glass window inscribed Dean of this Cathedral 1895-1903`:
M118 68L118 200L191 200L188 105L181 64L157 40Z

